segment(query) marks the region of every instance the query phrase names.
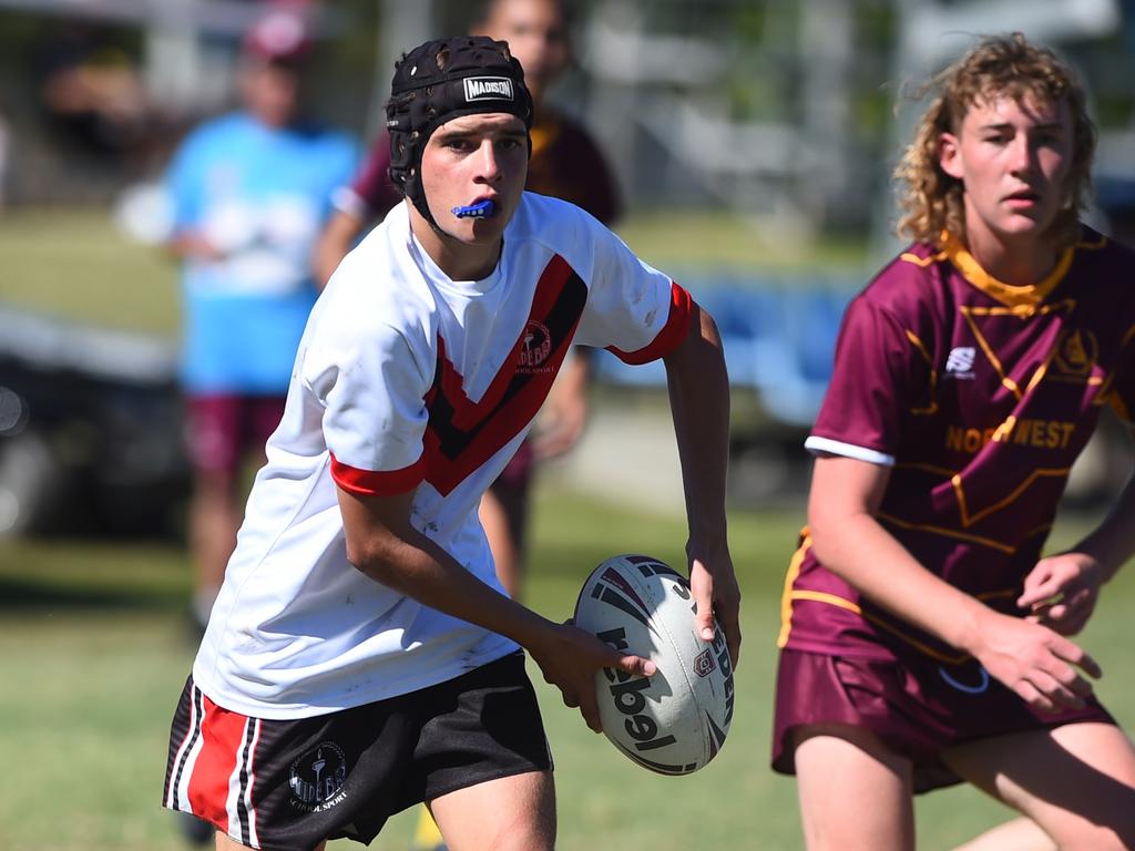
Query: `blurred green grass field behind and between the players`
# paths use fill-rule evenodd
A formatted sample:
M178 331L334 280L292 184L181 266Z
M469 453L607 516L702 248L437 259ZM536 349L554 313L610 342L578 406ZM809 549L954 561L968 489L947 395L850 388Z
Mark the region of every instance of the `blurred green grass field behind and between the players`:
M173 266L125 244L98 211L5 213L0 256L0 298L104 326L176 330ZM731 516L746 644L730 741L704 772L670 778L637 768L535 673L557 762L561 849L800 848L794 787L771 774L767 755L780 591L801 512ZM1065 519L1053 546L1088 522ZM529 601L553 617L569 614L603 558L638 550L679 562L684 538L678 517L550 488L539 495L532 534ZM182 848L158 801L169 718L195 649L188 591L177 542L0 541L0 851ZM1128 573L1107 589L1083 637L1107 672L1101 697L1128 725L1133 607ZM936 851L1007 812L959 787L920 800L918 816L919 846ZM412 816L398 817L373 848L405 849L411 829Z

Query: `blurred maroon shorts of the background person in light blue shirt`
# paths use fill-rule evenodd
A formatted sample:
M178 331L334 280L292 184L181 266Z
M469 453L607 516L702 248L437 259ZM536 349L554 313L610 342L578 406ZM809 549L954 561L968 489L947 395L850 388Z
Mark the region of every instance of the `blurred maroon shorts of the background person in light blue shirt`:
M284 396L190 396L186 441L193 467L236 477L245 457L263 455L284 415Z

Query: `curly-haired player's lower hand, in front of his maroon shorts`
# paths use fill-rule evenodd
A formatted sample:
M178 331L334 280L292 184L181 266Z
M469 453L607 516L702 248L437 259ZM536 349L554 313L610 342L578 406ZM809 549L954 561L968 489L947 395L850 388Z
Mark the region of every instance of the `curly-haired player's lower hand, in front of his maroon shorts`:
M1103 675L1078 644L1033 621L989 613L974 656L1029 706L1046 713L1079 709Z

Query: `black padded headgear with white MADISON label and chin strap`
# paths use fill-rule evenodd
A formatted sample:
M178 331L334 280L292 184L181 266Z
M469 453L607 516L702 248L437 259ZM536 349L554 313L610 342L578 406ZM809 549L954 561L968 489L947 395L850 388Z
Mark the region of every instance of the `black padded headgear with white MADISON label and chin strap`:
M532 128L532 96L506 42L484 35L428 41L395 64L386 102L390 183L435 228L421 183L422 151L443 124L480 112L508 112Z

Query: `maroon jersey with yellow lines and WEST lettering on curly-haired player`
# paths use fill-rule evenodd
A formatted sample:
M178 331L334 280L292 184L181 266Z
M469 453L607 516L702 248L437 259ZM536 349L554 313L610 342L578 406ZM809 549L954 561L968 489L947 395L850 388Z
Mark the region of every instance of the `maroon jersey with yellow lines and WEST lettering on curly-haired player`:
M915 245L848 306L806 446L890 465L883 526L950 584L1019 614L1104 404L1128 421L1135 412L1135 254L1085 228L1045 280L1010 286L959 245ZM964 658L827 571L807 530L779 643Z

